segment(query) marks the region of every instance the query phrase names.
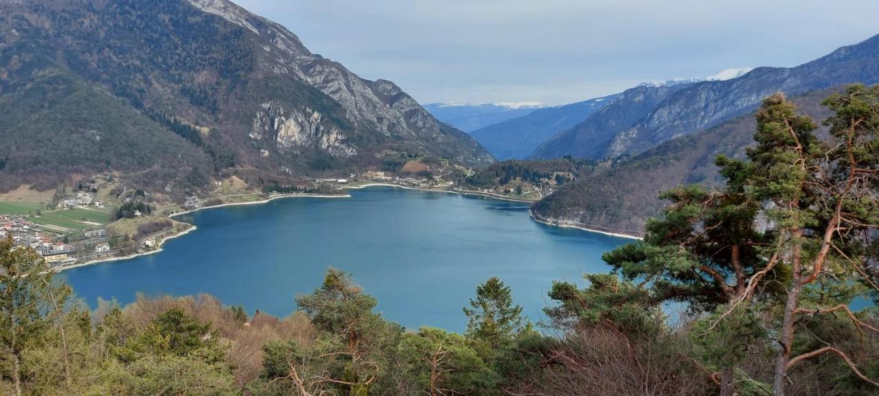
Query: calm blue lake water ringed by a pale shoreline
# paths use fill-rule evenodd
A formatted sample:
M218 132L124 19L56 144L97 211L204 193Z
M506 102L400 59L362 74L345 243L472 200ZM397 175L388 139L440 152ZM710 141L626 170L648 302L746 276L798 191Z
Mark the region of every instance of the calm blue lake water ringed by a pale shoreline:
M531 220L528 205L442 192L371 187L352 198L284 198L191 213L198 229L163 251L62 273L94 306L135 292L209 293L249 312L285 316L328 267L352 274L378 310L407 328L460 331L461 308L492 276L541 320L553 280L582 284L609 269L601 254L627 239Z

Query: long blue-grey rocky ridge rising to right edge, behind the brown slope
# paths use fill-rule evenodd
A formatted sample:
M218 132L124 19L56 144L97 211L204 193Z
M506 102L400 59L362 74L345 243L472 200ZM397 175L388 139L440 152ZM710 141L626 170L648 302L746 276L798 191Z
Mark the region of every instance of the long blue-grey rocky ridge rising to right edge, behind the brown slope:
M635 122L631 122L631 114L616 119L614 103L608 104L603 109L607 112L596 112L584 123L559 133L537 148L534 157L638 155L666 140L751 112L763 97L776 91L795 96L841 83L877 82L879 35L795 68L755 68L730 80L687 83L639 113ZM596 129L596 125L608 127Z

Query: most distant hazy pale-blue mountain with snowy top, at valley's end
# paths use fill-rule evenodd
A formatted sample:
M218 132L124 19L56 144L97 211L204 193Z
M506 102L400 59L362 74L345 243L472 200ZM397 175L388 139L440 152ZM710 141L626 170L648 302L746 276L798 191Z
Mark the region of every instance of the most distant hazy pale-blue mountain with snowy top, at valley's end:
M544 107L539 102L501 102L469 104L466 102L425 104L433 117L464 132L524 116Z

